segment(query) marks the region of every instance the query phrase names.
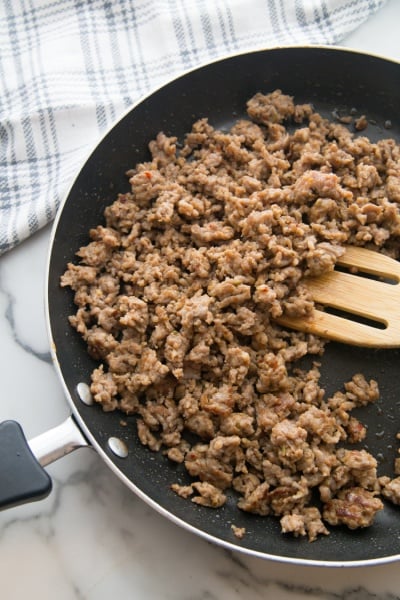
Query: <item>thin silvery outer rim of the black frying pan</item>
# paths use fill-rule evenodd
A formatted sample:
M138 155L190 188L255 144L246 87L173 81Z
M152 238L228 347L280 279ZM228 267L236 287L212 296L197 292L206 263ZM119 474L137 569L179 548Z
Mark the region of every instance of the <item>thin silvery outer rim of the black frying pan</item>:
M150 98L151 96L156 94L159 90L165 88L166 86L172 84L173 82L175 82L181 78L184 78L185 76L189 75L190 73L193 73L195 71L200 71L201 69L209 67L213 64L217 64L217 63L223 62L227 59L232 59L235 57L240 57L240 56L245 56L245 55L250 55L250 54L253 55L253 54L264 53L264 52L269 52L269 51L272 51L272 52L279 51L279 50L295 51L295 50L308 50L308 49L309 50L324 50L324 51L328 51L328 52L332 52L332 53L341 52L341 53L345 53L345 54L349 54L349 55L356 54L356 55L360 55L360 56L365 56L365 57L382 60L387 63L393 63L395 65L400 65L400 61L391 59L384 55L371 53L371 52L363 52L363 51L359 51L355 48L345 47L345 46L341 46L341 45L327 45L327 44L276 45L276 46L271 46L271 47L256 48L256 49L252 49L252 50L249 49L249 50L246 50L243 52L228 53L226 55L219 56L218 58L215 58L211 61L203 62L193 68L184 70L183 72L179 73L178 75L176 75L170 79L167 79L161 85L155 86L147 94L141 96L137 101L132 103L132 105L130 105L127 109L125 109L111 123L111 125L106 129L106 131L103 132L98 137L98 139L96 140L94 145L92 145L91 148L88 150L86 157L82 160L80 167L77 169L77 172L76 172L75 176L73 177L71 184L68 187L66 193L64 194L64 197L63 197L62 201L60 202L60 205L57 209L57 212L56 212L56 215L54 218L54 222L53 222L53 225L51 228L51 232L50 232L50 238L49 238L49 243L48 243L49 244L48 245L48 253L47 253L47 260L46 260L46 271L45 271L46 275L45 275L45 280L44 280L46 328L47 328L48 339L50 342L50 354L51 354L52 362L55 367L56 373L61 381L62 389L64 391L64 396L66 397L66 400L70 406L70 410L72 412L73 418L77 422L78 427L82 430L84 435L87 437L87 439L89 440L90 445L93 447L93 449L96 450L96 452L99 454L100 458L111 469L111 471L119 478L119 480L122 481L122 483L124 483L124 485L126 485L132 492L134 492L141 500L143 500L151 508L156 510L156 512L158 512L160 515L166 517L169 521L171 521L175 525L182 527L186 531L189 531L190 533L195 534L195 535L199 536L200 538L205 539L208 542L211 542L211 543L213 543L219 547L225 548L229 551L239 552L240 554L244 554L246 556L250 556L250 557L254 557L254 558L260 558L263 560L271 560L271 561L278 562L278 563L283 563L283 564L288 564L288 565L296 565L296 566L297 565L298 566L318 566L318 567L330 567L330 568L331 567L332 568L339 568L339 567L340 568L343 568L343 567L356 568L356 567L366 567L366 566L378 566L378 565L389 564L389 563L398 561L400 559L400 553L393 554L390 556L383 556L383 557L379 557L379 558L358 559L358 560L325 560L325 559L318 560L318 559L308 559L308 558L301 558L301 557L294 557L294 556L282 556L282 555L277 555L277 554L269 554L268 552L253 550L251 548L248 548L245 546L240 546L239 544L234 544L232 542L229 542L228 540L224 540L224 539L221 539L214 535L211 535L210 533L191 525L190 523L186 522L182 518L176 516L174 513L170 512L169 510L167 510L166 508L164 508L163 506L158 504L155 500L153 500L145 492L143 492L139 487L137 487L135 485L135 483L133 483L133 481L131 479L129 479L117 467L117 465L110 459L110 457L105 452L104 448L97 442L95 436L92 434L90 428L88 427L87 423L85 422L85 419L79 413L78 409L76 408L76 406L71 398L70 391L68 390L66 381L62 374L62 369L61 369L61 366L60 366L60 363L58 360L58 356L57 356L57 348L56 348L56 344L53 340L53 334L52 334L52 329L51 329L50 301L49 301L49 293L48 293L48 291L49 291L48 290L49 274L50 274L50 263L51 263L52 253L53 253L53 247L56 243L56 231L57 231L57 228L59 225L59 221L61 219L64 206L68 201L71 190L72 190L76 180L78 179L81 170L84 168L86 163L90 160L90 157L92 156L92 154L96 150L96 148L107 138L107 136L114 129L114 127L120 121L122 121L129 113L134 111L140 104L142 104L148 98Z

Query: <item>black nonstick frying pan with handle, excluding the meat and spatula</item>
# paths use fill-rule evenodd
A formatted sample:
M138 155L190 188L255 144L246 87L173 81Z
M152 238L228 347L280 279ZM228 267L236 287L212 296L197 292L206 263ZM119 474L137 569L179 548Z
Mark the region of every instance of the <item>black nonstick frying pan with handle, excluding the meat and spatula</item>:
M72 293L59 285L67 262L74 261L76 250L88 243L88 230L103 222L105 206L118 192L128 191L124 174L137 162L148 160L147 144L159 131L182 139L200 117L208 117L215 127L228 128L244 116L252 95L276 88L293 95L298 103L313 103L329 118L353 109L369 119L367 135L372 140L394 137L400 141L400 64L332 47L274 48L231 56L184 74L129 110L87 159L53 227L47 316L54 364L72 416L29 445L18 424L7 421L0 425L3 507L48 494L51 481L42 466L90 445L153 508L226 548L288 563L324 566L370 565L400 558L400 508L390 504L370 528L351 532L336 527L329 536L309 543L281 534L278 519L238 510L233 494L218 510L179 498L170 485L188 483L183 467L140 444L134 417L104 413L99 406L88 404L85 396L96 363L68 324L67 317L75 310ZM357 372L378 380L381 399L359 409L357 416L368 426L366 444L378 457L379 472L389 475L393 474L395 436L400 429L398 365L398 350L330 343L321 367L327 394L340 389ZM233 535L232 524L245 527L243 539Z

